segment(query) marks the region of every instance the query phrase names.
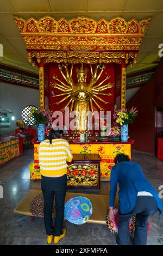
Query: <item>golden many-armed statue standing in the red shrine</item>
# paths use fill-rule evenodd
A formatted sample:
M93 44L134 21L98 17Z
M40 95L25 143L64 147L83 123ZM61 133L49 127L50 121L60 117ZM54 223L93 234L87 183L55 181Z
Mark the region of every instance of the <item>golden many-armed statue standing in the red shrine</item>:
M59 71L62 77L64 78L64 80L66 81L66 83L59 80L57 75L53 76L54 80L57 82L50 83L51 87L57 88L62 92L61 94L54 95L53 97L58 97L58 96L63 97L60 101L55 102L54 104L58 105L61 102L69 99L65 108L70 105L70 113L72 112L73 107L76 113L80 113L81 121L79 121L80 123L79 130L86 130L85 121L83 121L85 120L85 117L83 115L87 113L87 111L90 111L90 108L93 113L93 103L95 103L95 105L99 108L100 111L104 110L96 101L96 99L98 99L99 101L105 104L110 103L108 101L104 101L98 95L112 96L111 93L103 93L103 91L105 91L106 89L110 89L114 86L114 84L111 84L110 82L104 84L105 81L109 80L110 76L106 76L104 80L102 80L100 83L97 83L97 81L99 80L99 78L101 77L105 69L105 65L102 65L102 64L97 65L94 71L92 70L92 65L90 65L90 68L91 68L92 77L89 84L86 84L87 69L84 70L83 64L80 69L78 68L76 69L77 78L78 78L77 84L75 84L72 79L73 64L71 65L70 72L68 70L68 64L62 64L62 65L59 64ZM61 111L63 112L65 108L61 109Z

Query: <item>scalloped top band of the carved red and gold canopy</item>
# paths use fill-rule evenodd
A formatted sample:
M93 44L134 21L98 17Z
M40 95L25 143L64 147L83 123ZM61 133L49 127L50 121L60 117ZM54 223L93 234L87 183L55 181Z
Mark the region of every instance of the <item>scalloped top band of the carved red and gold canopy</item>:
M95 21L88 17L78 17L67 21L64 18L56 21L51 16L45 16L36 21L34 18L24 20L14 16L15 22L21 33L39 31L40 33L110 33L110 34L144 34L151 21L151 17L137 21L124 20L122 17L115 17L110 21L101 19ZM28 25L28 26L27 26ZM138 26L138 27L137 27Z

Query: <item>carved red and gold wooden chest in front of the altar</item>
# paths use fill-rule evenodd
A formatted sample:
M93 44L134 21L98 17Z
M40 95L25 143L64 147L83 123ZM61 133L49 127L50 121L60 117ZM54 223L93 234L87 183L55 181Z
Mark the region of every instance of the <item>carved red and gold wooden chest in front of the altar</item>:
M73 154L67 167L67 186L99 189L100 161L99 154Z

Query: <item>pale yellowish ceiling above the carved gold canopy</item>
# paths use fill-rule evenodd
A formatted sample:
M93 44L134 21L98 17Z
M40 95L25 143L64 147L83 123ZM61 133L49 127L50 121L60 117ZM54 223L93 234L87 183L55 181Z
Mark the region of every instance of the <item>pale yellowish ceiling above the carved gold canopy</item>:
M163 44L163 0L0 0L0 43L4 56L0 63L17 69L38 73L28 63L26 46L15 24L13 15L29 19L40 19L51 15L55 19L88 16L95 20L106 20L122 16L126 20L152 17L151 24L143 38L137 64L128 67L128 73L147 69L159 60L159 44Z

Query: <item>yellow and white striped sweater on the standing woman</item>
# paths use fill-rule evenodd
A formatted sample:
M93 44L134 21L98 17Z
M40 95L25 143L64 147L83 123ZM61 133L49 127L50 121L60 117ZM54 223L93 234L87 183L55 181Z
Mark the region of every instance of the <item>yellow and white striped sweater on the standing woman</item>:
M67 174L67 161L72 161L69 143L65 139L42 141L39 146L39 163L41 175L57 176Z

